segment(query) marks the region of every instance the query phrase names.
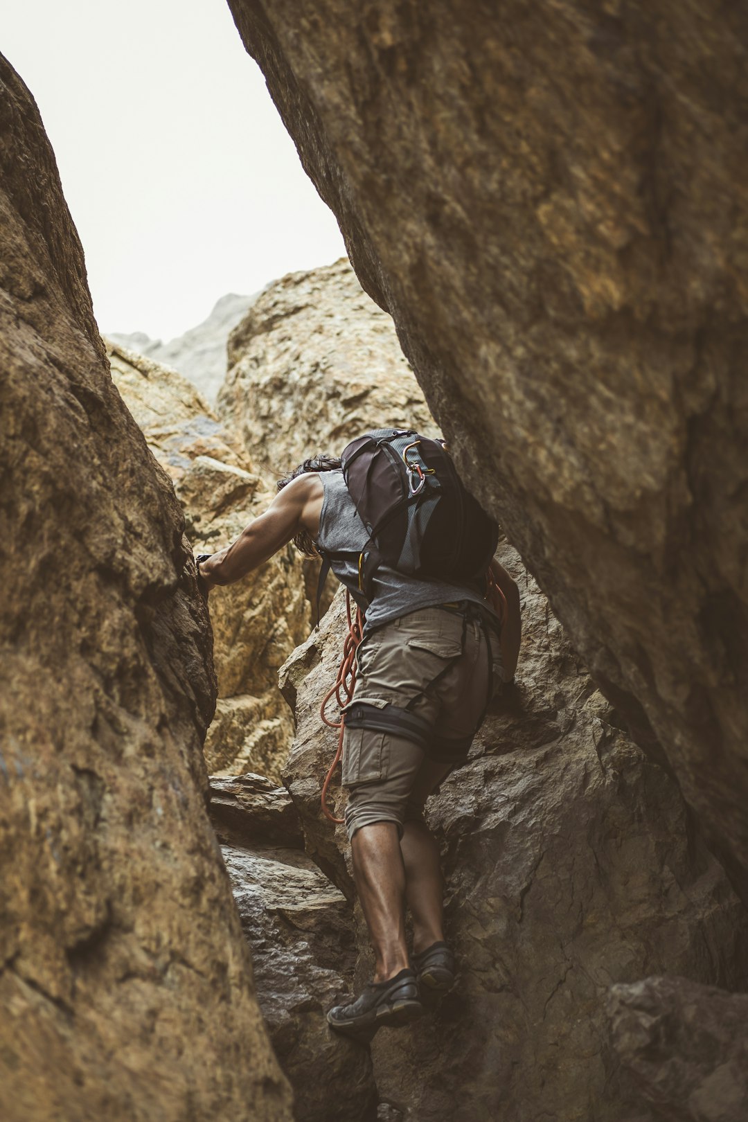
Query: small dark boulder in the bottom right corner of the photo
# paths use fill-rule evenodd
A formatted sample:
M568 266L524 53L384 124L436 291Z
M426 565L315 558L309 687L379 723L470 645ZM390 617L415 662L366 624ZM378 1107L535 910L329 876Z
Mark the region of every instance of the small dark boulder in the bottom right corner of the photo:
M652 977L610 991L612 1047L663 1122L748 1118L748 994Z

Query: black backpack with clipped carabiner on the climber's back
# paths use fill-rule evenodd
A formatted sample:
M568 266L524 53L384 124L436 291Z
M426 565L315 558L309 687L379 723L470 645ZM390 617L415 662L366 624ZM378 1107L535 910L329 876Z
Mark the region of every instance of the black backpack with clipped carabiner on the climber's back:
M351 441L341 461L370 535L359 557L357 599L371 600L380 564L484 592L499 527L465 490L441 441L410 429L375 429Z

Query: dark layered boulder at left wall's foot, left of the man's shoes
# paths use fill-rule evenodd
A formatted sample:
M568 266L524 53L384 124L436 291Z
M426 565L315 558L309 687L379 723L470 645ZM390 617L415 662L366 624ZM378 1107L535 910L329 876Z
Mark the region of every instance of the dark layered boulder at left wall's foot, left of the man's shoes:
M373 1122L369 1054L325 1020L352 990L350 905L304 854L284 788L260 775L212 779L211 817L252 949L260 1009L294 1088L295 1122Z

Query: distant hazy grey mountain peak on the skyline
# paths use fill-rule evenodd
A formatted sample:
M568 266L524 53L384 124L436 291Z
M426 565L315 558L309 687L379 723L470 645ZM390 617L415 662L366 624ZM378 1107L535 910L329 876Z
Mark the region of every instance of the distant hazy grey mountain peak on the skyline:
M229 334L244 318L257 295L228 293L221 296L206 320L166 343L160 339L150 339L142 331L131 334L112 331L109 339L126 350L174 367L213 405L225 378Z

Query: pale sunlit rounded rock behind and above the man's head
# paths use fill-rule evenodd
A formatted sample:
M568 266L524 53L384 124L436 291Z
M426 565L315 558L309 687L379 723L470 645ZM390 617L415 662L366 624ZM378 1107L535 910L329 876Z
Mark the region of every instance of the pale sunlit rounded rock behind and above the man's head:
M345 259L258 297L229 339L218 408L270 479L378 425L437 434L390 316Z

